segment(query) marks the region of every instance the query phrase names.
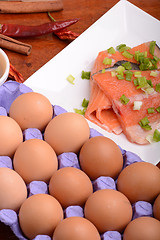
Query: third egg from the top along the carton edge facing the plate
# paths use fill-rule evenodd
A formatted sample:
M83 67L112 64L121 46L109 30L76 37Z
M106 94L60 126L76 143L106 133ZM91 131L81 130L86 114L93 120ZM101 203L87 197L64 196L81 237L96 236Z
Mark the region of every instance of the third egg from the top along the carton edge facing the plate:
M95 180L100 176L116 178L123 166L123 157L118 145L103 136L90 138L79 154L82 170Z

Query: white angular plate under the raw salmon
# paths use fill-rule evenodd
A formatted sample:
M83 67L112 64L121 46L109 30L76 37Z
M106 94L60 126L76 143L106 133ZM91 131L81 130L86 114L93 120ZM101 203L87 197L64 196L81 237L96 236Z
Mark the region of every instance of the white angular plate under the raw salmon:
M60 105L73 112L74 108L81 108L83 98L89 99L89 81L81 79L81 72L91 70L99 51L120 43L133 47L151 40L160 46L159 29L160 21L121 0L27 79L25 84L44 94L53 105ZM66 80L69 74L75 77L75 85ZM123 149L138 154L144 161L153 164L160 161L160 143L140 146L130 143L123 134L116 136L91 122L89 124Z

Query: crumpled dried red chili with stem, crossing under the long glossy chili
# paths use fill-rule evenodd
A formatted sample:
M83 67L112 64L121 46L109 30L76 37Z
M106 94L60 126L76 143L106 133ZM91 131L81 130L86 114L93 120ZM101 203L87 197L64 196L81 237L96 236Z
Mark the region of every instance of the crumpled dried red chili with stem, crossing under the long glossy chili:
M51 16L50 13L48 13L48 16L53 22L56 22L56 20ZM68 30L67 28L54 32L54 34L62 40L74 40L80 35L79 33L75 33L71 30Z

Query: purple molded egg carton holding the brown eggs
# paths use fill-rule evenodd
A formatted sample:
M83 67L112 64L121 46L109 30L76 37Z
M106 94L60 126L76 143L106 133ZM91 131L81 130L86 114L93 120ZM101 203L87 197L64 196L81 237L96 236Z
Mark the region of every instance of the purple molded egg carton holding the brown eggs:
M32 89L25 86L22 83L17 83L15 81L8 81L0 86L0 115L7 116L9 113L10 106L12 102L21 94L32 92ZM65 109L58 105L53 106L53 118L61 113L67 112ZM95 136L102 136L97 130L90 128L90 138ZM42 139L43 133L36 128L28 128L23 131L23 140L29 139ZM119 146L122 155L123 155L123 168L128 165L141 162L142 159L130 151L126 151ZM0 156L0 167L7 167L13 169L12 159L8 156ZM73 152L66 152L58 155L58 168L64 167L75 167L80 169L78 156ZM116 189L116 180L111 177L101 176L96 180L92 181L93 191L101 189ZM32 181L27 185L28 197L45 193L48 194L48 185L43 181ZM132 220L142 216L153 217L152 205L149 202L138 201L132 205L133 217ZM64 218L79 216L84 217L83 208L80 206L69 206L64 210ZM11 209L2 209L0 210L0 222L9 226L15 236L20 240L27 240L23 235L18 221L18 214ZM122 235L117 231L107 231L101 235L102 240L121 240ZM51 240L50 236L47 235L38 235L34 240Z

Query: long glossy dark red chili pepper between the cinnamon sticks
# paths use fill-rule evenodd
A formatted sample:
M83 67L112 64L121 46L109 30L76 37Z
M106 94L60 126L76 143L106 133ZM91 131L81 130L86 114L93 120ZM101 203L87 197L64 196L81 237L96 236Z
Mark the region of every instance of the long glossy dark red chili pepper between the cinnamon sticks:
M19 24L0 24L0 33L9 37L36 37L48 33L56 33L74 23L79 19L49 22L37 26Z

